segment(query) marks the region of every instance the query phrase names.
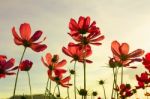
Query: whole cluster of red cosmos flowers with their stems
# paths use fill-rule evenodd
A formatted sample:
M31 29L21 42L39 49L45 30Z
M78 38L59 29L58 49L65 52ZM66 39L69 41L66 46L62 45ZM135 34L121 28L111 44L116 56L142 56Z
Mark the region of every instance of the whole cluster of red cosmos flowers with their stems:
M50 97L52 99L60 98L60 89L59 86L67 88L67 98L72 99L69 96L69 87L74 86L74 99L77 99L77 92L81 95L82 99L87 99L87 82L86 82L86 67L88 63L92 63L91 60L87 59L92 55L92 46L99 46L104 39L104 35L101 35L101 31L99 27L96 26L96 22L90 22L90 17L79 17L78 22L75 19L71 19L69 22L69 35L75 42L69 42L67 47L62 48L62 52L71 58L71 63L74 62L74 69L70 70L70 75L65 76L67 70L63 67L66 65L67 61L65 59L59 60L59 55L52 55L48 52L45 57L41 57L41 62L46 66L48 81L45 89L45 97ZM18 66L14 66L15 59L11 58L7 61L7 57L5 55L0 55L0 78L5 78L6 75L14 75L16 74L16 80L14 85L13 98L15 99L15 92L17 87L18 75L20 71L26 71L29 78L29 86L30 86L30 96L32 97L31 91L31 83L30 83L30 75L29 70L33 65L33 62L28 59L23 59L24 54L27 48L31 48L35 52L42 52L47 48L47 45L41 44L46 37L42 41L37 42L37 40L41 37L42 31L36 31L33 36L31 36L31 27L28 23L23 23L20 25L20 36L17 34L15 27L12 28L12 34L14 37L14 42L16 45L23 45L24 50L19 62ZM129 45L127 43L120 44L118 41L113 41L111 44L111 51L113 56L109 60L109 67L112 68L113 71L113 85L112 85L112 93L111 99L126 99L134 95L138 89L145 89L150 87L150 53L147 53L145 57L140 58L144 54L144 50L137 49L129 53ZM136 69L136 66L131 66L130 64L134 62L142 62L145 66L146 70L141 73L141 76L136 75L136 79L138 81L138 85L135 88L132 88L130 84L124 83L124 68L132 68ZM83 64L83 83L84 86L81 89L78 89L76 85L76 63ZM14 70L17 70L15 73ZM119 73L120 80L119 80ZM71 74L73 74L73 84L70 84ZM54 92L51 92L52 84L51 81L56 83L56 87L54 88ZM104 97L107 98L104 81L100 80L99 84L102 85L104 90ZM50 86L48 88L48 86ZM58 88L58 94L55 96L55 89ZM145 96L149 96L150 93L146 92ZM92 92L93 99L94 96L97 96L97 92ZM101 97L98 97L101 99Z

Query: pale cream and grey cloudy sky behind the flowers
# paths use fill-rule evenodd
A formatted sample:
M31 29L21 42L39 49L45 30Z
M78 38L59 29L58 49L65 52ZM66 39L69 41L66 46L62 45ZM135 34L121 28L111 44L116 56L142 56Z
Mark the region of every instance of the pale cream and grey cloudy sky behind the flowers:
M13 26L19 30L22 23L31 25L32 33L36 30L43 31L44 41L48 48L41 53L27 49L24 59L33 61L33 68L30 71L31 84L34 94L44 93L47 81L47 69L40 61L41 56L47 52L59 54L60 59L67 59L66 68L73 64L71 58L65 56L61 49L73 42L67 34L70 18L78 20L79 16L90 16L96 21L101 33L105 35L101 46L92 46L93 54L90 59L92 64L87 66L87 85L91 92L97 90L103 96L98 81L104 79L108 97L111 90L112 71L105 67L109 57L112 56L111 42L127 42L130 50L137 48L150 51L150 1L149 0L0 0L0 54L9 58L15 58L16 63L20 60L23 47L13 42L11 29ZM19 31L18 31L19 32ZM78 88L83 86L83 67L77 64ZM125 81L136 84L135 74L140 74L144 69L137 64L138 69L125 70ZM95 76L96 75L96 76ZM13 93L15 76L8 76L0 79L0 98L10 97ZM61 88L61 90L64 90ZM29 94L27 75L25 72L19 74L17 94ZM141 95L140 95L141 96Z

